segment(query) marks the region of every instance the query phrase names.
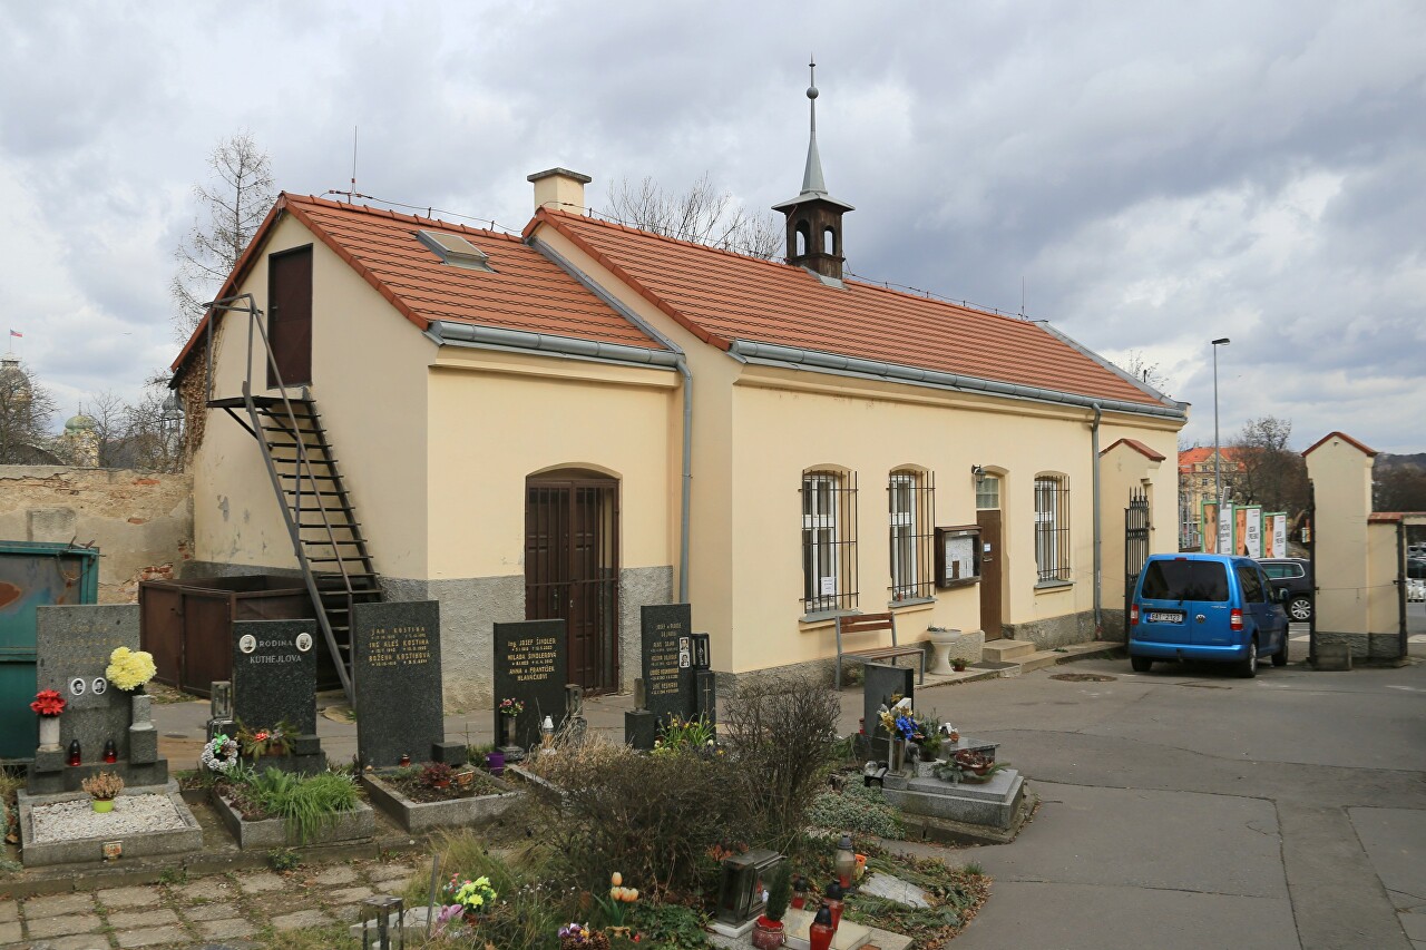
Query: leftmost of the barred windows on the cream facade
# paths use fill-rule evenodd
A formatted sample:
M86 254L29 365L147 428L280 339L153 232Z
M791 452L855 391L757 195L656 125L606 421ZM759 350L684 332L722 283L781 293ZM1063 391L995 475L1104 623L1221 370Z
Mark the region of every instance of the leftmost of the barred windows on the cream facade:
M803 606L807 613L857 606L857 476L804 472Z

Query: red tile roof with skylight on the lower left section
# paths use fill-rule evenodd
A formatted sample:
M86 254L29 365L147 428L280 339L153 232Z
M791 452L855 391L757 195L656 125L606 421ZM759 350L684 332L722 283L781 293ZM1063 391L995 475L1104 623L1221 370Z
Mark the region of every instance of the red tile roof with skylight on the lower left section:
M284 213L301 221L421 330L432 321L451 321L663 348L519 237L287 193L234 268L224 294L241 284L267 231ZM418 230L465 237L489 257L495 272L443 264L421 242ZM202 331L200 324L174 368L187 359Z

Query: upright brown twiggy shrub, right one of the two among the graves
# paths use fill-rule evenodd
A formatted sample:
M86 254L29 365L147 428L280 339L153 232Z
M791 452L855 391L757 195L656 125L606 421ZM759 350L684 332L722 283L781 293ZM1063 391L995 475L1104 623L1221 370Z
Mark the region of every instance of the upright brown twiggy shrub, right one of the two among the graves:
M722 733L759 839L786 850L836 763L837 695L810 676L740 685Z

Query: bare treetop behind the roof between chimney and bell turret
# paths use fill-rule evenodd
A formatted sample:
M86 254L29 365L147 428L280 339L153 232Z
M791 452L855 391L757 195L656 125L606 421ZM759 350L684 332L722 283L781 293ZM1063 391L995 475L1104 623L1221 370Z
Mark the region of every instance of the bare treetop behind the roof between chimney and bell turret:
M645 231L707 244L734 254L771 258L783 250L783 228L771 213L754 214L729 191L717 191L707 173L682 193L653 178L637 187L625 178L609 191L609 217Z

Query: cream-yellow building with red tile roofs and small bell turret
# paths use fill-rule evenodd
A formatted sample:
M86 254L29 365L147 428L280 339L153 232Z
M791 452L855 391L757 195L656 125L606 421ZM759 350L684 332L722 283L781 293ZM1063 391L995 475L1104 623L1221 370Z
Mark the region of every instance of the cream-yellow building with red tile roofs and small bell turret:
M734 676L830 670L850 612L1094 639L1129 491L1176 546L1186 405L1048 324L844 278L814 160L786 262L597 220L562 168L520 237L282 195L225 288L250 297L175 364L190 414L215 402L191 573L335 572L294 553L247 385L319 415L366 558L335 569L376 575L348 596L441 601L451 706L489 700L492 623L526 618L568 620L570 682L626 689L639 608L680 599Z

